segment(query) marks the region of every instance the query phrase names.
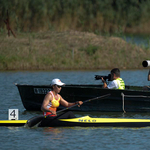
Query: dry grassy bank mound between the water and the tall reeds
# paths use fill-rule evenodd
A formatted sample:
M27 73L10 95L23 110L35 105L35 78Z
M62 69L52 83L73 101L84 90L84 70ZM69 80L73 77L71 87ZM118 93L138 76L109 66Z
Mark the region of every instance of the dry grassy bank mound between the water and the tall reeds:
M149 49L89 32L0 34L0 70L139 69Z

